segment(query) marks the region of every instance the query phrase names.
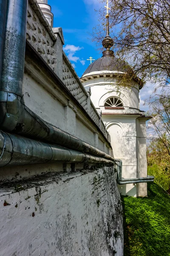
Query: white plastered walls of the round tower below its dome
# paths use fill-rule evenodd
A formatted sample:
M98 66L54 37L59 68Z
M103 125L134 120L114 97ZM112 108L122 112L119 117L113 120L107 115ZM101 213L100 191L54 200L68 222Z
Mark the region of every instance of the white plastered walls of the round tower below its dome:
M131 90L122 88L117 92L116 77L104 77L104 71L97 72L99 77L96 77L95 73L86 74L84 79L82 77L82 83L86 90L91 91L91 100L102 113L102 120L111 136L113 157L122 160L122 177L147 177L148 118L139 110L139 84L133 82ZM105 108L105 101L110 97L121 99L123 108ZM147 195L147 183L118 185L118 188L123 195Z

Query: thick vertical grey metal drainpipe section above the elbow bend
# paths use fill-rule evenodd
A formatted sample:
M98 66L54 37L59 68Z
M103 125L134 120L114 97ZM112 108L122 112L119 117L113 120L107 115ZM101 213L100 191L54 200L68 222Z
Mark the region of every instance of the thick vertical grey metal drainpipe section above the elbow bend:
M7 0L0 90L18 96L23 96L27 9L28 0Z

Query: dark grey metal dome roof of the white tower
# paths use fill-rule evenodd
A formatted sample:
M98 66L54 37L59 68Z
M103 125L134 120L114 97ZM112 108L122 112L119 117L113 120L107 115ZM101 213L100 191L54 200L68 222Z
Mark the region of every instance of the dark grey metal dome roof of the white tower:
M127 64L127 62L114 57L113 51L106 50L103 52L103 56L101 58L98 58L96 61L94 61L88 66L88 68L85 70L82 76L91 72L103 71L103 70L122 71L122 72L132 71L132 69Z

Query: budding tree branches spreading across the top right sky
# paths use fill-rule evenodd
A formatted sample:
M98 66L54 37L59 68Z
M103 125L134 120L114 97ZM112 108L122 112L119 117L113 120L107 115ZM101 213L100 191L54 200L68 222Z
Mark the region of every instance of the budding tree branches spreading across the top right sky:
M162 87L170 88L170 1L111 0L110 7L116 55L130 62L142 81L159 79ZM97 39L100 31L94 32Z

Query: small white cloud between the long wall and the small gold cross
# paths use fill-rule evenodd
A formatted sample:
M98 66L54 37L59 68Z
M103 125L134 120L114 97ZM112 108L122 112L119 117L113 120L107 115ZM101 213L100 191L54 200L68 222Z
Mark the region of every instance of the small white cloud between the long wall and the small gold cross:
M68 59L70 61L74 61L76 63L77 63L77 61L79 61L82 65L85 65L85 60L80 59L79 57L75 56L75 53L81 49L84 49L84 47L75 46L73 44L67 44L65 47L63 47L63 49L67 53ZM72 66L73 66L73 64L72 64Z

